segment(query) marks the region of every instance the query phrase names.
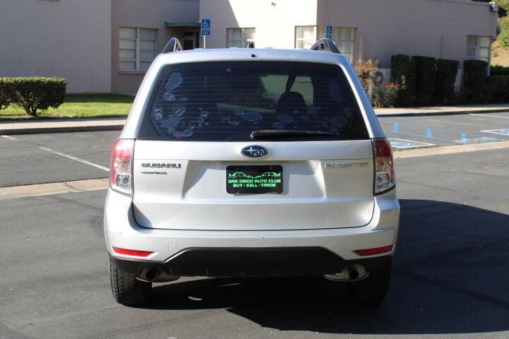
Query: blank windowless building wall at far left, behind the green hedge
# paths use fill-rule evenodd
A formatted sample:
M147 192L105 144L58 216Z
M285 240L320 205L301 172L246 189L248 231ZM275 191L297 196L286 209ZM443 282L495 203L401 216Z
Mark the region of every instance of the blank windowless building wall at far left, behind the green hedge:
M111 90L105 0L0 0L0 76L59 76L69 92Z

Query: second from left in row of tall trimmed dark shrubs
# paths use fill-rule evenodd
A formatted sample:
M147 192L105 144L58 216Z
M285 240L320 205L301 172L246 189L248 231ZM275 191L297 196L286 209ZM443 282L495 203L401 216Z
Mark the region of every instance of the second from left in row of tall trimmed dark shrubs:
M417 105L433 104L436 83L436 59L431 57L412 58L416 67Z

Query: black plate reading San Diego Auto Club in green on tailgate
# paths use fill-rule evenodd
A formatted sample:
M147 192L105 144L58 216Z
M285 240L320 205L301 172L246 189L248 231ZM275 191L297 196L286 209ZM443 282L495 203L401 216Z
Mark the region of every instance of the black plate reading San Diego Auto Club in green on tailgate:
M239 165L226 167L228 194L283 193L283 166Z

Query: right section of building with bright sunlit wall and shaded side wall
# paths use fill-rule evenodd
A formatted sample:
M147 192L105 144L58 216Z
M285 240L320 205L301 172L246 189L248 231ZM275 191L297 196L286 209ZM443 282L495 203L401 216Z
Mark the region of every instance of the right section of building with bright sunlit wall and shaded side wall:
M378 59L382 68L399 53L488 59L488 50L467 54L469 36L482 48L497 27L489 4L469 0L201 0L200 17L212 20L212 48L238 45L236 33L242 47L250 40L256 47L308 48L331 25L351 61Z

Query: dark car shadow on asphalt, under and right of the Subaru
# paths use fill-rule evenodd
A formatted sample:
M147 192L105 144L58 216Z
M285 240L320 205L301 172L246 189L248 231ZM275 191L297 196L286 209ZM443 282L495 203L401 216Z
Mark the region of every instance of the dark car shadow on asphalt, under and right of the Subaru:
M509 330L509 216L402 200L390 292L380 307L335 297L320 278L202 279L154 287L148 309L221 309L280 331L354 334ZM334 285L333 285L334 284Z

